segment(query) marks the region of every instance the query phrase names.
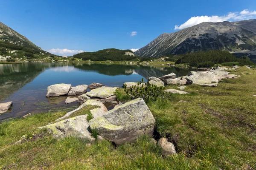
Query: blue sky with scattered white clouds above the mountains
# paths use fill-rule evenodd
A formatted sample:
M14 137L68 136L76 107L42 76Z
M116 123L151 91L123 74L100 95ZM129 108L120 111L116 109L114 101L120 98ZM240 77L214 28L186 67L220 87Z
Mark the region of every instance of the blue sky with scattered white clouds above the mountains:
M0 4L0 22L60 55L142 48L162 33L202 21L256 18L255 0L0 0Z

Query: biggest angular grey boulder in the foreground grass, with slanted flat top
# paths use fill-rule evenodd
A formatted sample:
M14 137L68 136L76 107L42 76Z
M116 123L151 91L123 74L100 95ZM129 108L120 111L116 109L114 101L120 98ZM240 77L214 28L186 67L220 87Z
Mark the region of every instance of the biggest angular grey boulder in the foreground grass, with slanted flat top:
M104 139L124 144L153 135L155 119L142 98L131 100L89 121Z

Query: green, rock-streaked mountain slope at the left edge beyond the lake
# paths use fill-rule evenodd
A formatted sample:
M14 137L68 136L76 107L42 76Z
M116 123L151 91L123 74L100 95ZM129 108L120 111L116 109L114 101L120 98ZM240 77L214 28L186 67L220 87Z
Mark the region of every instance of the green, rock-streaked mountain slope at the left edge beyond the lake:
M0 56L12 58L27 56L33 59L49 55L49 52L42 50L29 39L0 22Z

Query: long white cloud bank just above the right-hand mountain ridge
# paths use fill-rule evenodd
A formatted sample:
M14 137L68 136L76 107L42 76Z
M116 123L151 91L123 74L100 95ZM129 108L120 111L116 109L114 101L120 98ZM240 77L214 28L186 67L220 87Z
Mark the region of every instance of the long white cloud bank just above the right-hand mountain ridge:
M249 20L253 17L256 17L256 11L249 11L248 9L244 9L241 12L230 12L227 15L224 16L197 16L197 17L191 17L189 20L187 20L185 23L175 26L175 30L188 28L191 26L195 26L197 24L203 23L203 22L223 22L223 21L238 21L238 20Z

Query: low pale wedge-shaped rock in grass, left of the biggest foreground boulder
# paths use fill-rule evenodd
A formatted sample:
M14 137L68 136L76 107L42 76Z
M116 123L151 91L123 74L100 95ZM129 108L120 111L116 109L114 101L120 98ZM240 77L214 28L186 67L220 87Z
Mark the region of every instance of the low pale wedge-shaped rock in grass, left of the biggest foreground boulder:
M55 138L78 136L79 138L88 139L88 142L95 141L95 138L92 137L88 130L90 128L87 122L87 115L76 116L39 128L46 128Z

